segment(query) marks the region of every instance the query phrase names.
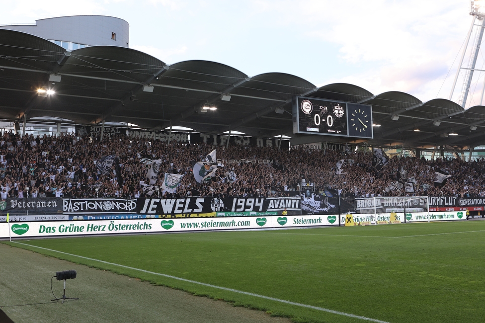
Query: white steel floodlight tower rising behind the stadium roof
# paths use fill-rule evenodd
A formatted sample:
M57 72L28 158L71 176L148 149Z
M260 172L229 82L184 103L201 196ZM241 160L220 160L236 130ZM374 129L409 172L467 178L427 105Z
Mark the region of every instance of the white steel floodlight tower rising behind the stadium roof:
M471 6L470 15L473 17L472 25L470 26L470 31L468 32L467 39L465 41L465 47L463 49L462 58L460 60L460 67L456 72L455 81L453 82L453 86L451 88L451 93L449 97L449 99L452 100L458 78L464 72L465 75L464 75L463 87L457 102L463 108L466 108L467 99L470 94L470 87L472 86L474 72L477 71L480 74L485 72L485 70L476 69L477 60L479 59L480 45L482 44L482 39L484 36L484 30L485 30L485 19L484 19L485 0L472 0L471 5L472 6ZM472 35L474 35L474 44L469 50L470 38L472 37ZM485 92L485 80L482 80L482 83L480 83L480 81L476 81L476 83L474 83L475 87L478 85L482 85L482 95L480 98L480 102L477 102L477 104L482 105L483 99L484 99L484 92ZM471 104L469 104L469 106L470 105Z

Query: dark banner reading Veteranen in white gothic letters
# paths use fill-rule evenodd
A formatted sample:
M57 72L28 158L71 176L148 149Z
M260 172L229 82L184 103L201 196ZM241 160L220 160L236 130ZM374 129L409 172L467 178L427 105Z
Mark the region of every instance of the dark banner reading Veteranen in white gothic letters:
M12 214L61 213L60 197L7 198L0 202L0 211Z

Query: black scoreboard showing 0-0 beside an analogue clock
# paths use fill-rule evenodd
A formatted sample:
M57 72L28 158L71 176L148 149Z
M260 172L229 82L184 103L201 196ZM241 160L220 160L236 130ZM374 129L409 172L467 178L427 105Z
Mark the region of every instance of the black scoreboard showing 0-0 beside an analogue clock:
M372 139L372 107L297 96L293 101L293 133Z

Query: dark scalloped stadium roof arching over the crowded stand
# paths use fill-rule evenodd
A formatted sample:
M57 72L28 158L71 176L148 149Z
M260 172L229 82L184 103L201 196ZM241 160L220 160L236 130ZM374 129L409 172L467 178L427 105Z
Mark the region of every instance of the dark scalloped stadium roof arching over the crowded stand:
M55 90L55 95L39 96L40 87ZM223 94L230 100L223 100ZM375 95L345 83L317 87L285 73L248 77L208 61L167 65L123 47L69 52L30 34L0 29L3 120L52 117L79 124L128 122L146 129L183 126L214 134L231 130L267 138L283 134L292 137L292 144L364 141L293 134L296 95L372 105L374 123L380 126L374 127L369 145L462 150L485 144L485 106L465 110L446 99L422 102L398 91ZM207 103L217 110L201 112Z

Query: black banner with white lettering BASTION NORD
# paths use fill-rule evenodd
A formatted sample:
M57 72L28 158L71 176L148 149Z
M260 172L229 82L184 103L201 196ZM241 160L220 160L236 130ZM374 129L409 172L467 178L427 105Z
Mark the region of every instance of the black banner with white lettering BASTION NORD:
M62 200L62 212L65 214L134 213L136 208L136 199L76 198Z

